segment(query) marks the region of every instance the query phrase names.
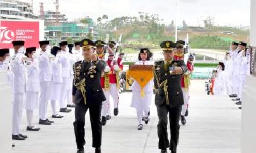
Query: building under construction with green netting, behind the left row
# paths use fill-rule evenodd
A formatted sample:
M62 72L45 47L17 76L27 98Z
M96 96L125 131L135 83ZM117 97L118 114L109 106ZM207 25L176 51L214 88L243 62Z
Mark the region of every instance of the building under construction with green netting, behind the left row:
M89 17L68 22L65 14L56 14L47 11L45 12L44 20L45 39L51 40L52 45L56 45L59 41L67 39L81 40L88 35L91 35L93 39L98 37L93 19Z

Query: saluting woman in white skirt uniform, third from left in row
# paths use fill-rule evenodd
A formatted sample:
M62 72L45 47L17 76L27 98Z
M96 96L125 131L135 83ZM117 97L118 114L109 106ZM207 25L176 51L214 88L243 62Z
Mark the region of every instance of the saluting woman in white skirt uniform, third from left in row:
M34 109L38 108L39 103L39 65L38 61L35 60L35 47L26 48L25 56L27 59L27 83L26 83L26 100L25 100L25 109L27 115L27 131L39 131L40 128L37 128L33 125L33 113Z

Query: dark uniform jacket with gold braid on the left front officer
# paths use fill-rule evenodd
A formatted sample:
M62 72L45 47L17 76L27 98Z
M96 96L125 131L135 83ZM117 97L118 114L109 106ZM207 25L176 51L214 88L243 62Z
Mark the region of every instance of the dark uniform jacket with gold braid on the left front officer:
M90 73L91 67L94 67L94 73ZM104 63L101 60L97 60L96 62L86 62L83 60L74 64L75 76L72 95L75 96L75 103L84 103L81 90L75 86L83 79L86 80L84 86L86 90L86 104L97 104L106 100L100 84L100 77L103 70Z

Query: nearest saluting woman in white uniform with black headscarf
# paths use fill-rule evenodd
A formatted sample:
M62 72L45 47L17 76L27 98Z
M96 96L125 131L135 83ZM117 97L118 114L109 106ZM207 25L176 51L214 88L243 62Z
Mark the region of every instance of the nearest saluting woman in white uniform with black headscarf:
M62 64L59 60L60 47L54 46L51 54L55 57L52 61L52 83L51 83L51 104L52 104L52 118L63 118L64 116L57 114L57 101L60 101L61 86L63 83Z

